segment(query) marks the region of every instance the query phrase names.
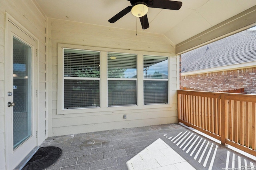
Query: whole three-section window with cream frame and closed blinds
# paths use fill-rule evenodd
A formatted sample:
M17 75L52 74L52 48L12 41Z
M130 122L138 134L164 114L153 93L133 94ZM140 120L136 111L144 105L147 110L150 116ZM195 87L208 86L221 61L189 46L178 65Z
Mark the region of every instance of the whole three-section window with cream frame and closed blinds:
M169 107L168 54L150 54L58 43L57 114Z

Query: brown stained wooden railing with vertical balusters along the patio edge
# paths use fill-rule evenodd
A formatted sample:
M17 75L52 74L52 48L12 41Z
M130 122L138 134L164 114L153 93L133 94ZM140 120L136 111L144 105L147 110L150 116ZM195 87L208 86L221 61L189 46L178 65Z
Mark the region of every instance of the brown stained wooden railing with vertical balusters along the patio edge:
M178 90L178 121L256 156L256 95Z

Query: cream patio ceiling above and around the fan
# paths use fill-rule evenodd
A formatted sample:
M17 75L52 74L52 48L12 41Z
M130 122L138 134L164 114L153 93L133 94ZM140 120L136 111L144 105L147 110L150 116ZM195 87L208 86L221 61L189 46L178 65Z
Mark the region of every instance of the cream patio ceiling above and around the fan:
M143 30L139 18L131 12L115 23L108 22L131 5L128 0L35 1L48 18L163 34L174 44L256 5L256 0L181 0L183 4L178 11L149 8L147 16L150 27Z

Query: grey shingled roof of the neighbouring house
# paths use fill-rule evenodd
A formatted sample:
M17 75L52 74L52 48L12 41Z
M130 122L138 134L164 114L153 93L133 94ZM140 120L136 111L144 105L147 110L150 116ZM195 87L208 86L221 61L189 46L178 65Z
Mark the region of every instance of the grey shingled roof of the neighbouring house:
M256 61L256 30L245 30L181 55L182 72Z

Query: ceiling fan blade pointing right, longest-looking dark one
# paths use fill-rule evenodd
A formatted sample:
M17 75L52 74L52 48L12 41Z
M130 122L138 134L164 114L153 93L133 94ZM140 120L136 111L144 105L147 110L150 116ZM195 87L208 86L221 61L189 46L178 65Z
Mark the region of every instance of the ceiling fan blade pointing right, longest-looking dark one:
M181 6L182 2L172 0L154 0L153 3L148 3L148 7L162 8L167 10L179 10Z

